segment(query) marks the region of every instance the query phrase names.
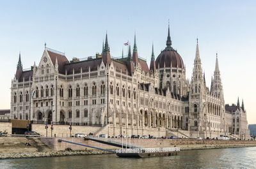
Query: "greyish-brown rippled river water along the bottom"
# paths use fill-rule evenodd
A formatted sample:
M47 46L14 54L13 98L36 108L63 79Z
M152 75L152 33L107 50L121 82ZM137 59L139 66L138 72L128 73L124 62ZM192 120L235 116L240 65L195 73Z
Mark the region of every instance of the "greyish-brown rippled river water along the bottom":
M181 151L179 156L118 158L115 154L1 159L0 168L256 168L256 147Z

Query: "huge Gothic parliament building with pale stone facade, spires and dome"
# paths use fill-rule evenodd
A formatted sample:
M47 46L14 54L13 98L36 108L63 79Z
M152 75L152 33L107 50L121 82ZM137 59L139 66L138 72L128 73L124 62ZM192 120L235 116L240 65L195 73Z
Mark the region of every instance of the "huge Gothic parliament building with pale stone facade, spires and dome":
M152 47L149 68L145 59L138 57L135 36L133 51L130 46L127 57L111 57L108 36L102 54L96 57L68 61L64 53L45 47L38 66L34 64L27 71L22 70L19 57L11 95L12 119L34 123L109 124L113 136L124 134L124 129L141 131L142 135L146 134L143 131L179 130L188 137L232 133L218 57L209 88L197 42L189 82L182 57L172 47L170 29L166 48L156 61ZM247 123L241 128L246 131Z

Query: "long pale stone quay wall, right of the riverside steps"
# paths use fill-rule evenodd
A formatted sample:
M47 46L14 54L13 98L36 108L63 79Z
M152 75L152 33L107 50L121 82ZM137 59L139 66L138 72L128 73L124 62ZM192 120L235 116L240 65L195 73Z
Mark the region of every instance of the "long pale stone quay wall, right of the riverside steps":
M72 150L90 150L90 147L83 147L81 145L75 145L67 142L58 142L58 139L67 140L69 142L81 143L84 145L90 145L93 147L99 147L103 149L120 149L119 147L114 147L111 145L106 145L103 143L93 142L92 140L84 140L84 138L41 138L42 142L51 147L54 151L63 151L67 148ZM122 142L121 138L114 138L118 142ZM246 141L246 140L171 140L171 139L123 139L124 147L125 143L138 145L139 147L154 148L154 147L180 147L181 150L190 149L212 149L212 148L225 148L225 147L255 147L256 141Z

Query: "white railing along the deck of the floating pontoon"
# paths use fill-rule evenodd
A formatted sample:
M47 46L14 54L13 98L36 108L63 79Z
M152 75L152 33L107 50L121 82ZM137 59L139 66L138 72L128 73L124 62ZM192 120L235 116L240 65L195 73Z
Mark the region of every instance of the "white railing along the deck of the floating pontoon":
M144 149L117 149L116 153L148 153L148 152L178 152L180 147L161 147Z

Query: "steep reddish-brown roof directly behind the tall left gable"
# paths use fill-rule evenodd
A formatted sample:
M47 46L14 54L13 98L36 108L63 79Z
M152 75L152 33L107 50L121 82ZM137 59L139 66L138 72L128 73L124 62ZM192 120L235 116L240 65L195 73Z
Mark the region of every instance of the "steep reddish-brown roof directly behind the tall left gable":
M50 50L47 50L47 52L48 52L54 66L55 66L55 62L56 62L56 58L57 58L57 60L58 60L58 71L60 73L65 74L64 66L65 66L65 64L69 63L67 57L65 55L57 54L57 53L52 52Z

